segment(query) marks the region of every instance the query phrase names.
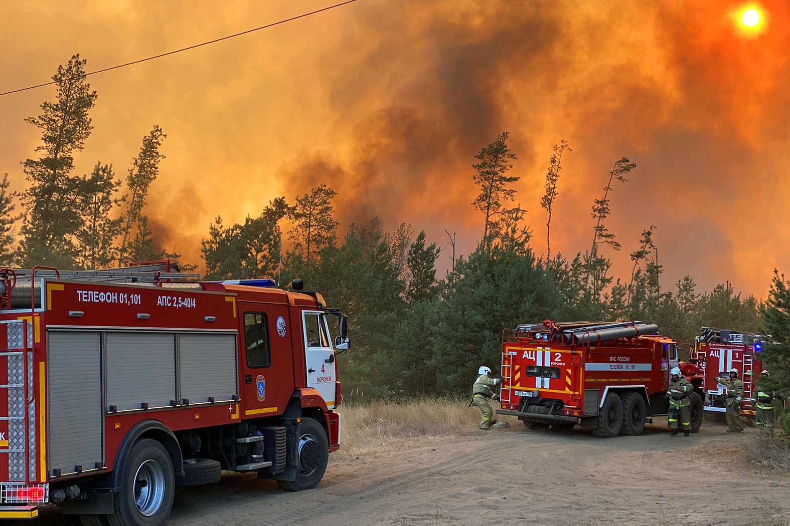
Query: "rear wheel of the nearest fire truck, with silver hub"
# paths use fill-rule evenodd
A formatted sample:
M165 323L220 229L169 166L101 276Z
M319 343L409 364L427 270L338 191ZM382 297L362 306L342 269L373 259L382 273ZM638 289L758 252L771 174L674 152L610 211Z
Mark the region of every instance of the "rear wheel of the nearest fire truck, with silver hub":
M161 526L170 515L175 477L170 455L159 442L135 442L123 466L121 491L115 494L111 526Z

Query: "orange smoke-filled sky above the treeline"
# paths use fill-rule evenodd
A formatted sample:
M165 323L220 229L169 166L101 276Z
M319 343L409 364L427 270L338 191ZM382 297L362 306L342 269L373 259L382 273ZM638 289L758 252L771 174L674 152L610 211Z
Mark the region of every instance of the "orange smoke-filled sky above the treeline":
M100 69L329 3L2 0L0 91L48 80L73 53ZM755 5L762 32L748 34L734 14ZM691 274L764 297L774 267L790 273L788 29L780 0L359 0L89 77L99 99L75 173L100 160L125 175L158 124L167 159L148 214L187 259L216 215L240 221L320 183L343 226L378 215L442 246L448 229L468 252L482 231L472 155L507 130L542 254L544 174L566 139L552 252L589 247L592 200L626 155L638 167L611 203L615 272L653 224L668 285ZM40 139L23 119L53 94L0 97L14 188Z

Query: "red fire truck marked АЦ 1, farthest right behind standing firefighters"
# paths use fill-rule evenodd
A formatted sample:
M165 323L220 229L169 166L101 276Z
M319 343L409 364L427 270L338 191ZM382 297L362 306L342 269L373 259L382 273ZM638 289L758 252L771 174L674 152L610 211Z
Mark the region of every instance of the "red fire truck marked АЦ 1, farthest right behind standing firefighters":
M743 382L743 401L740 413L754 416L755 408L751 401L754 380L762 371L760 351L766 336L743 333L737 330L701 327L700 335L695 338L691 359L697 360L704 380L705 411L725 412L727 410L727 388L716 381L718 377L729 378L729 371L735 368Z

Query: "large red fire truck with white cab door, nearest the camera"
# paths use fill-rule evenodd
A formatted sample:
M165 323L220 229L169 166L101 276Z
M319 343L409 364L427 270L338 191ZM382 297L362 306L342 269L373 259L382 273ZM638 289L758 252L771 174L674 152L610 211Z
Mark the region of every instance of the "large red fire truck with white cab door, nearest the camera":
M298 280L171 270L0 270L0 518L56 503L84 524L156 526L176 486L222 469L291 491L322 479L345 316Z

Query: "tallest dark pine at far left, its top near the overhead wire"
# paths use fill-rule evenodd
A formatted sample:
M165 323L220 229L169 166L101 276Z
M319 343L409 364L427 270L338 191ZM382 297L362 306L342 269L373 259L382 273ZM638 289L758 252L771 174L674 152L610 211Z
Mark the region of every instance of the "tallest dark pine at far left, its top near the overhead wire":
M57 100L41 105L42 113L25 121L41 131L36 147L39 159L27 159L23 171L29 183L22 194L26 214L20 246L23 266L47 264L74 266L77 246L74 237L82 221L77 203L80 179L71 177L72 154L81 151L93 129L88 111L96 102L96 91L85 81L85 64L78 54L52 76Z

